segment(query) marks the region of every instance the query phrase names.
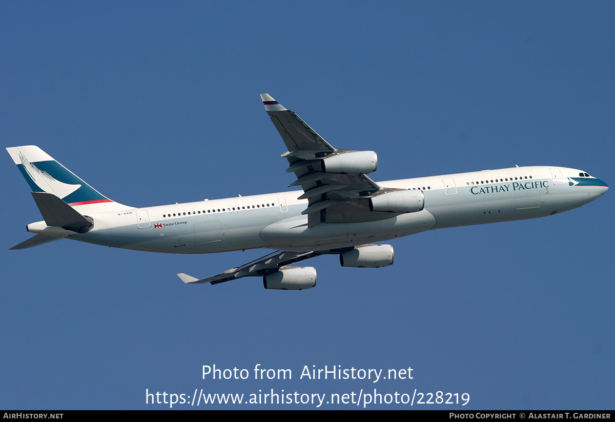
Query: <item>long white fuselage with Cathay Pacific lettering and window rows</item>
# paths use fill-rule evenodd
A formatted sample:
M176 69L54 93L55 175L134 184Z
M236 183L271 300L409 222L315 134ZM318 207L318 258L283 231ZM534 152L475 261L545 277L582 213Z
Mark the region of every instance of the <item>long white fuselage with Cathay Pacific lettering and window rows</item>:
M303 191L290 191L99 213L88 213L83 205L76 209L93 219L87 233L44 221L28 225L28 231L166 253L335 249L429 229L544 217L587 204L608 189L579 173L584 172L535 166L383 181L379 185L384 188L421 189L424 209L362 223L308 228L308 217L301 215L308 201L297 199Z

